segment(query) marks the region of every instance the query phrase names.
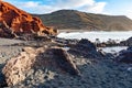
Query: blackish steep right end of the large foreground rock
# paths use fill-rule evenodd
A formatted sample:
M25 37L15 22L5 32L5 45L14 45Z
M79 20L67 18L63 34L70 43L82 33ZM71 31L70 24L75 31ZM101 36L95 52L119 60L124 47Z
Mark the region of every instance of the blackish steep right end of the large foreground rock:
M64 70L68 72L72 75L80 74L76 65L73 63L72 57L66 51L62 48L52 48L52 51L61 68L63 68Z

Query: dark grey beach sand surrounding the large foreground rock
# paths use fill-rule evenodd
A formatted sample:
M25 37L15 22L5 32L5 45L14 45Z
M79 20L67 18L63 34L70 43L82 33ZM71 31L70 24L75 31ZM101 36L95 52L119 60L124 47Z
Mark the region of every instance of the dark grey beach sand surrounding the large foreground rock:
M10 46L22 41L0 38L0 67L23 46ZM72 55L73 56L73 55ZM80 76L61 73L54 67L33 68L26 79L12 88L132 88L132 65L112 59L74 57ZM8 87L11 88L11 87Z

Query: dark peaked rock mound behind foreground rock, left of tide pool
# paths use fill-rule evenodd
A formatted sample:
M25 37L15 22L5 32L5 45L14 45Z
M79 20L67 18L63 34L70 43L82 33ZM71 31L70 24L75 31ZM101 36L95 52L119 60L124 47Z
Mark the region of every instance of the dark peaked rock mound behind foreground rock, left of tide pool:
M77 56L79 55L79 56L84 56L84 57L98 58L98 57L102 56L102 54L100 54L100 52L97 51L96 45L86 38L80 40L68 52L74 55L77 55Z

